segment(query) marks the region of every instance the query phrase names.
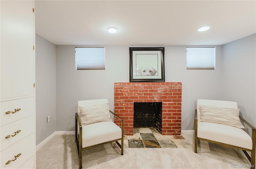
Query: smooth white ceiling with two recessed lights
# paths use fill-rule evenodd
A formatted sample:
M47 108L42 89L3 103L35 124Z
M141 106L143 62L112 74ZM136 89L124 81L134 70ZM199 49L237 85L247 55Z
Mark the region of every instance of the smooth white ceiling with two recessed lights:
M36 0L35 20L56 45L223 45L256 33L256 1Z

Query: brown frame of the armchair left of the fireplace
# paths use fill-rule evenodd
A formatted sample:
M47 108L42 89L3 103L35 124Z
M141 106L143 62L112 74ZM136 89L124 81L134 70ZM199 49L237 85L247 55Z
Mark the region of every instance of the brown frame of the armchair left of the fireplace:
M82 169L82 150L84 150L84 149L97 147L97 146L100 146L100 145L103 145L106 143L112 143L115 141L116 144L121 148L121 155L124 154L124 119L119 117L117 114L115 114L111 110L109 110L109 112L121 120L122 137L119 139L116 139L116 140L110 140L110 141L106 141L104 143L100 143L100 144L96 144L96 145L92 145L92 146L84 147L84 148L82 147L82 124L81 124L80 118L78 116L78 113L76 113L76 134L75 135L76 135L76 146L77 146L78 157L79 157L79 169ZM78 133L78 128L79 128L79 133ZM121 140L121 144L118 142L118 140Z

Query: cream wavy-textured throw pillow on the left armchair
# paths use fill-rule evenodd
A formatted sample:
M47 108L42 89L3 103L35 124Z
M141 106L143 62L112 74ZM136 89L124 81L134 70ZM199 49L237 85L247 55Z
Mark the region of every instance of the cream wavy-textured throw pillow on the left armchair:
M82 126L96 122L112 121L109 114L109 105L98 104L92 106L79 106Z

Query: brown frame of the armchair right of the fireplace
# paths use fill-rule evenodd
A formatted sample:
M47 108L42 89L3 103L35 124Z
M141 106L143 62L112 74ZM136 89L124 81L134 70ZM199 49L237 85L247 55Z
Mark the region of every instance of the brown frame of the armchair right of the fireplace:
M240 112L241 113L241 112ZM252 149L246 149L243 147L237 147L234 145L230 145L230 144L225 144L225 143L220 143L217 141L212 141L212 140L207 140L204 138L198 138L197 137L197 128L198 128L198 118L197 118L197 110L195 112L195 137L194 137L194 152L197 153L197 147L198 147L198 140L204 140L204 141L208 141L211 143L217 143L220 145L226 145L229 147L233 147L233 148L237 148L237 149L242 149L242 151L244 152L244 154L246 155L246 157L248 158L248 160L251 162L251 169L255 169L255 155L256 155L256 128L254 126L252 126L249 122L247 122L246 120L244 120L244 118L242 118L241 116L239 116L240 120L242 120L248 127L250 127L252 129ZM247 151L251 152L251 156L247 153Z

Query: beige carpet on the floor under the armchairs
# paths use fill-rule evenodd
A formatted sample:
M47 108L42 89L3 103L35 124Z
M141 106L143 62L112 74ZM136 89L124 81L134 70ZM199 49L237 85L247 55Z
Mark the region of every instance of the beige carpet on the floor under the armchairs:
M193 144L193 135L182 135ZM89 169L230 169L249 168L242 150L200 141L198 153L189 148L124 148L115 143L83 151ZM74 135L56 135L36 152L37 169L78 169Z

